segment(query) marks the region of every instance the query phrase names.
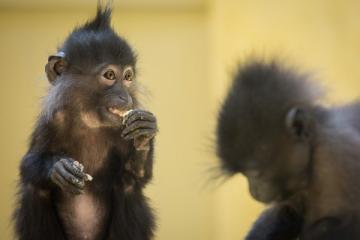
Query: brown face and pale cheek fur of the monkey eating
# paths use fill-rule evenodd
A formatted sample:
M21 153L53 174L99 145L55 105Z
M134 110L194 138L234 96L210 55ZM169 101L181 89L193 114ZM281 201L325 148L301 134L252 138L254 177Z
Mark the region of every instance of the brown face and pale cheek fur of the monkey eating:
M120 127L124 113L137 105L134 81L130 64L99 63L86 72L68 65L53 83L48 100L56 105L53 109L65 110L90 128Z

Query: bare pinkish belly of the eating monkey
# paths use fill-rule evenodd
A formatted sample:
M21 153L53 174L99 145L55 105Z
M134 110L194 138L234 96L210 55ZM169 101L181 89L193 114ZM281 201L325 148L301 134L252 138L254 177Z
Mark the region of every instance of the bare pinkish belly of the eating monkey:
M98 197L87 192L80 195L64 194L57 208L69 240L97 240L104 237L109 209Z

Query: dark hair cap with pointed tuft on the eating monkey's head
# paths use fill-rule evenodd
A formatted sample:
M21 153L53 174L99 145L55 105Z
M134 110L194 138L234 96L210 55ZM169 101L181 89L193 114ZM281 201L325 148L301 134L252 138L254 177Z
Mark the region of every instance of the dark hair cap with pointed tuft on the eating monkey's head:
M112 28L111 14L109 3L99 3L96 16L76 27L58 48L64 54L68 71L89 72L103 63L135 66L136 55Z

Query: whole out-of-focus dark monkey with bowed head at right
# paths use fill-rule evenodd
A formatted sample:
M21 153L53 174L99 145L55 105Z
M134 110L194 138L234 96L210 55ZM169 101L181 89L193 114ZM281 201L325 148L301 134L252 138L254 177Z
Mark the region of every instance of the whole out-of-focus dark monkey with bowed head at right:
M246 239L360 239L360 103L323 106L310 80L279 61L252 60L221 107L222 169L243 173L256 199L275 203ZM300 110L289 129L291 109Z

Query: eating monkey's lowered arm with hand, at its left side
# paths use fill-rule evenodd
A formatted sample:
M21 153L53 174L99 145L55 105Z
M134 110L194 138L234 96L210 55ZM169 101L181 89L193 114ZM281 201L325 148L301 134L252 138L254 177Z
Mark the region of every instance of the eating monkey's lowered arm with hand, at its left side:
M51 151L54 136L51 124L39 119L28 153L20 164L21 180L43 190L58 186L64 191L81 193L86 174L73 164L73 159Z

